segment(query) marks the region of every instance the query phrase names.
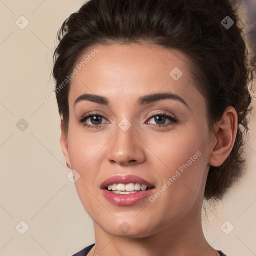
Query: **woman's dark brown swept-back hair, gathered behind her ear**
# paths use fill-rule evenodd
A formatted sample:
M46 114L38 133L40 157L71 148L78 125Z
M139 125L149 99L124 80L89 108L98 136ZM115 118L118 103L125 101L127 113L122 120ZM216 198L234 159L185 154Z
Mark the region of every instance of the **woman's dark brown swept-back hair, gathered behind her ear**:
M229 28L221 24L226 16L234 22ZM89 47L146 42L175 48L192 63L191 74L206 100L209 127L227 106L233 106L238 115L233 148L223 164L210 166L204 197L221 198L241 175L251 101L250 71L238 17L228 0L89 0L64 20L57 39L52 72L66 134L70 82L56 89Z

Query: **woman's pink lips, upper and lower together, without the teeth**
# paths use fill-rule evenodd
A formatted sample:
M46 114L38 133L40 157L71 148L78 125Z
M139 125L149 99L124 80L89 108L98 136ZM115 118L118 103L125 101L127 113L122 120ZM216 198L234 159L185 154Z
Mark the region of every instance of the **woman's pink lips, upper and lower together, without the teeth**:
M128 205L138 203L145 197L148 197L154 190L154 187L153 187L145 191L139 190L131 194L115 194L107 189L104 189L105 187L107 187L107 185L114 184L114 183L117 183L117 184L118 183L122 183L122 184L140 183L141 185L144 184L148 187L153 187L153 185L148 181L146 181L145 179L138 177L136 175L131 175L131 174L125 175L125 176L114 175L107 178L100 185L102 194L109 202L119 206L128 206Z

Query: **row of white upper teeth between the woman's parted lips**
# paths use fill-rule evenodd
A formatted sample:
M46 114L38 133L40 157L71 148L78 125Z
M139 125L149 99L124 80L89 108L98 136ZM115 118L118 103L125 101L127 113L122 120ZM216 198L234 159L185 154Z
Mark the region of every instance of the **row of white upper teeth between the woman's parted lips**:
M130 193L135 193L136 191L139 191L140 189L142 191L146 190L147 186L146 185L141 185L139 183L128 183L128 184L122 184L122 183L114 183L114 184L109 184L107 186L108 190L112 190L114 193L118 194L130 194Z

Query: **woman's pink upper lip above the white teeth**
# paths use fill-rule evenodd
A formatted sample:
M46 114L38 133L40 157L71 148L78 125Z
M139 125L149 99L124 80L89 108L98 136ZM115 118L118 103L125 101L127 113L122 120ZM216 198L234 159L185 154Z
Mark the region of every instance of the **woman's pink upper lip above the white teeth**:
M153 186L151 183L149 183L148 181L146 181L145 179L143 179L139 176L128 174L125 176L122 176L122 175L110 176L101 183L100 188L104 189L108 185L114 184L114 183L116 183L116 184L118 184L118 183L122 183L122 184L139 183L141 185L146 185L146 186L150 186L150 187Z

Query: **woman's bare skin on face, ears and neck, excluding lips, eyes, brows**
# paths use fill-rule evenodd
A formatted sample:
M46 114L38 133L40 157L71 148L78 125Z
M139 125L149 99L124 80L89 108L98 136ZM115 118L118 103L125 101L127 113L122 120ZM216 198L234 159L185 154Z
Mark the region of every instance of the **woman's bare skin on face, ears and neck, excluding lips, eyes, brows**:
M194 85L189 60L177 50L146 43L95 45L80 60L94 48L99 52L72 78L68 133L61 121L60 137L67 166L80 175L78 196L94 223L95 246L88 255L218 255L204 238L201 206L209 166L219 166L232 149L234 108L227 107L208 129L204 98ZM175 66L183 73L178 80L169 75ZM156 92L175 93L188 106L175 99L136 104L140 96ZM74 106L84 93L105 96L109 105L82 100ZM78 122L89 112L103 115L97 129ZM155 112L178 121L166 118L170 125L155 127L160 122L148 119ZM123 118L131 123L127 131L118 127ZM153 202L146 198L118 206L101 193L101 182L114 174L138 175L157 191L197 151L200 156ZM126 233L118 228L123 221L130 227Z

